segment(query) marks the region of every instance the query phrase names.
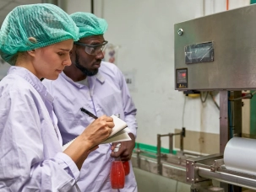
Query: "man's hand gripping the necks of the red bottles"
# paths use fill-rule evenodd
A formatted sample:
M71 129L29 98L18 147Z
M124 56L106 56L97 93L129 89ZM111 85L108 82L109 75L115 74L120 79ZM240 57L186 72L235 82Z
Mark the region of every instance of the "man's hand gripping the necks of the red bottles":
M127 162L131 159L133 154L133 148L135 147L135 136L133 136L133 133L128 133L128 135L131 137L131 141L122 141L121 147L119 148L118 152L112 152L112 157L121 157L121 160L123 162ZM112 151L117 146L118 142L112 143Z

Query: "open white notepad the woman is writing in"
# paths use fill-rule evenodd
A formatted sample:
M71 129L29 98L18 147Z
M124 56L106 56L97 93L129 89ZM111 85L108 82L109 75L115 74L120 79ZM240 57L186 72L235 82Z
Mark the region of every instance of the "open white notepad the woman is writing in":
M128 135L129 129L123 120L119 119L117 116L112 115L115 126L112 129L112 133L108 138L101 142L101 144L110 143L110 142L119 142L119 141L130 141L131 138ZM75 140L75 139L74 139ZM63 151L74 141L69 141L65 145L63 145Z

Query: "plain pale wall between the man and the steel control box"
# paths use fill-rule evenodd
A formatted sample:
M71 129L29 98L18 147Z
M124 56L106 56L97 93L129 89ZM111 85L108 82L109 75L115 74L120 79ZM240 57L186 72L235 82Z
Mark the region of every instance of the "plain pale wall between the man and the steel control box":
M198 17L200 3L131 0L104 4L103 17L109 23L106 39L121 45L118 67L135 73L131 92L138 108L138 142L156 145L157 134L182 128L184 96L174 90L173 24ZM199 99L188 98L183 125L188 130L218 133L218 111L210 102L202 105ZM167 147L167 140L162 146Z

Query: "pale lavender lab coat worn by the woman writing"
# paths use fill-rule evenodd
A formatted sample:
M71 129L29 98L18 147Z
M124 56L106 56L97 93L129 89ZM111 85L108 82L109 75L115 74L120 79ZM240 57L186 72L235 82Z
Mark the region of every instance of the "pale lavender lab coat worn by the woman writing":
M59 152L45 159L41 109L35 95L20 92L0 95L0 191L79 191L70 157Z

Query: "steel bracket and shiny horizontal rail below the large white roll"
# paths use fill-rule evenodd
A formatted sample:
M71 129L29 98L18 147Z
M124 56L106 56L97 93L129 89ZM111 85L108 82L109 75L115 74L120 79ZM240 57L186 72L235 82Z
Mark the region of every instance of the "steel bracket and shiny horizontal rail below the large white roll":
M226 192L229 191L228 184L236 185L235 191L240 191L237 186L256 189L256 175L226 169L221 154L187 159L186 179L188 183L198 187L202 181L215 179L221 182L221 188Z

